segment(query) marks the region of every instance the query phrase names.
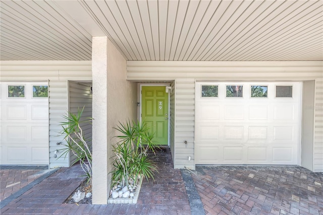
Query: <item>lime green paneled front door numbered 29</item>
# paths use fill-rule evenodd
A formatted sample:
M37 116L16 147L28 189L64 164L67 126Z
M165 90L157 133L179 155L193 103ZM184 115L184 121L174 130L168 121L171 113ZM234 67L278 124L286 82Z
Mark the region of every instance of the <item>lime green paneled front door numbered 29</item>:
M168 93L165 86L142 86L141 118L154 133L154 142L168 145Z

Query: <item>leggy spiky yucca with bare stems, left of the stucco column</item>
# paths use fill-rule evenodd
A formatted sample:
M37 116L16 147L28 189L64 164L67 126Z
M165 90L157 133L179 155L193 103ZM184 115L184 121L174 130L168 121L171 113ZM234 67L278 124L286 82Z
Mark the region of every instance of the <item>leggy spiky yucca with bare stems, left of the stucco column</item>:
M61 134L65 135L64 139L66 144L63 144L65 148L61 149L61 155L59 157L66 157L69 152L76 156L75 162L72 164L80 163L82 170L87 177L89 186L92 185L92 150L88 144L88 140L85 139L81 124L92 123L92 118L86 118L82 120L82 109L78 109L77 114L67 112L63 118L65 122L61 123L63 128Z

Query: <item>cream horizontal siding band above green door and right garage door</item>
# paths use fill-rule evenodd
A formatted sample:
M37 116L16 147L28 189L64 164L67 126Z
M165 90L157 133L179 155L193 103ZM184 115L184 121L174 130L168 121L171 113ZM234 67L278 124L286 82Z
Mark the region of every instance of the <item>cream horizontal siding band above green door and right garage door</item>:
M323 63L315 62L171 62L128 61L128 80L312 80L322 74Z

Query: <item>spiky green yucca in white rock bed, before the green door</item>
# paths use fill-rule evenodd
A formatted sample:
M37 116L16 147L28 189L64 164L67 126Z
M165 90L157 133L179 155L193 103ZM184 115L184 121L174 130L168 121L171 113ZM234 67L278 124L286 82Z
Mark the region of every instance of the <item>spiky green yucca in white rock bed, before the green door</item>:
M128 185L128 180L134 182L139 177L153 178L153 171L157 166L148 157L147 152L154 152L158 147L153 143L154 135L149 132L145 123L135 123L128 120L126 123L115 128L121 135L116 136L120 139L115 146L114 152L114 170L112 171L112 186L119 184L123 187Z

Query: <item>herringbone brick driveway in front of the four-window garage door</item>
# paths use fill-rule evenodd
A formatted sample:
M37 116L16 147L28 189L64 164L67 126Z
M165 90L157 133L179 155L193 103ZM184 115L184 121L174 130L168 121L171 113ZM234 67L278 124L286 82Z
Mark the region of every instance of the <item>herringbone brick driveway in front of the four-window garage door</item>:
M301 167L197 166L206 214L323 214L323 174Z

